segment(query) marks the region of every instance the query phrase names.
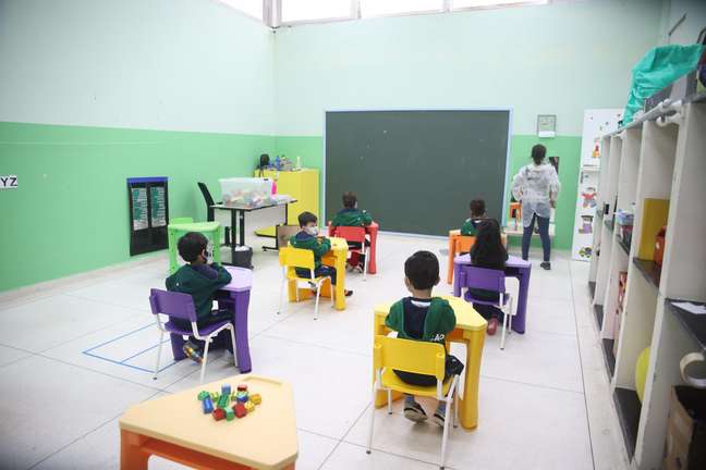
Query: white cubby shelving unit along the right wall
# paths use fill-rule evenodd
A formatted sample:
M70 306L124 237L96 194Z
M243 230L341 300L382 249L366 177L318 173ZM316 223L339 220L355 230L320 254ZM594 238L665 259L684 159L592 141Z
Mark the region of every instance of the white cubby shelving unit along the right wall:
M689 317L670 302L706 301L706 96L652 111L604 136L601 147L588 279L593 307L632 467L659 469L670 391L683 384L679 362L687 352L706 349L706 316ZM633 207L628 246L613 227L613 213ZM660 217L667 227L661 267L648 249ZM621 272L628 281L623 312L617 317ZM635 368L646 347L649 364L641 403ZM706 375L706 367L697 372Z

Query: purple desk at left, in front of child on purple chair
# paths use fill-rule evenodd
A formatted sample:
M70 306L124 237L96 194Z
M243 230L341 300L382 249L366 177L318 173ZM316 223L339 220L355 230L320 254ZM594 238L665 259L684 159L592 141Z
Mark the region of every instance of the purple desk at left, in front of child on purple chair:
M219 308L229 308L233 311L238 368L241 373L248 373L253 369L249 357L249 343L247 341L247 308L249 306L249 290L253 285L253 272L245 268L226 267L226 269L231 273L233 279L230 284L223 286L218 292L216 300L218 301ZM186 357L182 350L184 338L174 334L170 336L174 360L184 359ZM214 343L209 346L209 350L223 347L232 350L230 343L230 333L228 330L224 330L214 339Z

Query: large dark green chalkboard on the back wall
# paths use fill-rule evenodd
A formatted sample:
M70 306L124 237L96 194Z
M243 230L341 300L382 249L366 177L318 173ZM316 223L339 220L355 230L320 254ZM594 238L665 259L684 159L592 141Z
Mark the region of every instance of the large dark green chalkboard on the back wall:
M502 219L509 110L326 113L326 218L352 190L380 230L448 235L486 201Z

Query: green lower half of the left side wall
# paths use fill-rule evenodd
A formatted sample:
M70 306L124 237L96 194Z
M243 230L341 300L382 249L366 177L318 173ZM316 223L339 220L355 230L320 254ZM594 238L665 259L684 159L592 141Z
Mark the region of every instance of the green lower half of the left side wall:
M168 176L170 217L206 219L196 182L249 174L260 135L0 123L0 290L127 261L125 178Z

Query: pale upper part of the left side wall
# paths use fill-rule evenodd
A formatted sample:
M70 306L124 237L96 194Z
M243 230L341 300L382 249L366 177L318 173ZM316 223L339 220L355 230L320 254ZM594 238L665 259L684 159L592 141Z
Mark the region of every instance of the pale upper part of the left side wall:
M0 0L0 121L271 134L272 61L215 0Z

